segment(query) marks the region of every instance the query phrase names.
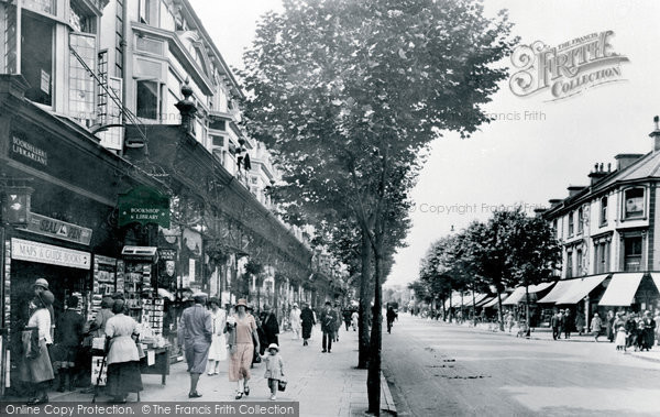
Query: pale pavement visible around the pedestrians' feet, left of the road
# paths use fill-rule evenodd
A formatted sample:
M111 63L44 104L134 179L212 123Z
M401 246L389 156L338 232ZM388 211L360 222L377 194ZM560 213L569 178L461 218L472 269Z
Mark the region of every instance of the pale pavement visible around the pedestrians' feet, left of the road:
M280 354L284 360L285 375L288 380L286 391L278 393L278 402L299 402L300 416L336 417L363 416L369 408L366 395L366 370L358 370L358 332L352 329L339 332L339 342L332 344L332 353L321 353L321 332L319 326L312 330L309 345L302 347L301 340L293 340L293 333L279 336ZM161 375L142 375L144 391L142 402L234 402L235 383L230 383L227 374L227 361L221 363L218 375L200 377L199 399L188 398L189 377L184 362L170 366L166 385L161 384ZM263 377L264 367L255 364L250 383L251 393L239 402L270 400L267 381ZM396 406L384 377L381 377L382 414L396 415ZM78 389L72 393L50 393L51 402L91 402L92 395ZM4 398L12 400L16 398ZM109 398L99 395L99 403ZM129 402L136 399L129 395Z

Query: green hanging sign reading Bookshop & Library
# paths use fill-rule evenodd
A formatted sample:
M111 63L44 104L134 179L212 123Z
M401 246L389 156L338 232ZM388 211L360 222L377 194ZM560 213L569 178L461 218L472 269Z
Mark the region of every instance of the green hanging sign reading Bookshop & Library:
M136 187L119 196L119 226L156 223L169 228L169 197L148 187Z

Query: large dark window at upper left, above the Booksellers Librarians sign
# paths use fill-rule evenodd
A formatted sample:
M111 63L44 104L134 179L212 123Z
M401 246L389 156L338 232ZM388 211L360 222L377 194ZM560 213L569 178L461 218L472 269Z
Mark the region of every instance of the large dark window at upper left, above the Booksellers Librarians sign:
M29 13L22 14L21 24L21 74L30 84L25 97L52 106L54 24Z

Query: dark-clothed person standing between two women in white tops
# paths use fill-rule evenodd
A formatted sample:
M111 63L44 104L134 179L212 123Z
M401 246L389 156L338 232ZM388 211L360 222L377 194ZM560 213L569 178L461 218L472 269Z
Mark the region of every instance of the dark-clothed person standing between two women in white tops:
M74 391L76 386L76 375L73 373L76 370L76 359L85 328L85 319L76 311L77 308L78 297L70 295L66 300L66 310L57 320L53 359L55 367L59 369L59 384L57 385L59 393L64 393L65 389Z

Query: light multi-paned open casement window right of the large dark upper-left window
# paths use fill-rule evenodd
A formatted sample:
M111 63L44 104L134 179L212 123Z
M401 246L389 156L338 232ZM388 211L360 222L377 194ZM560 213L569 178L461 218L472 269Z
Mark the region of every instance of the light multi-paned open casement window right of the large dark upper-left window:
M97 61L96 37L82 33L69 34L69 113L79 122L90 127L96 122L95 72ZM78 61L78 57L82 61ZM91 72L91 74L90 74Z

